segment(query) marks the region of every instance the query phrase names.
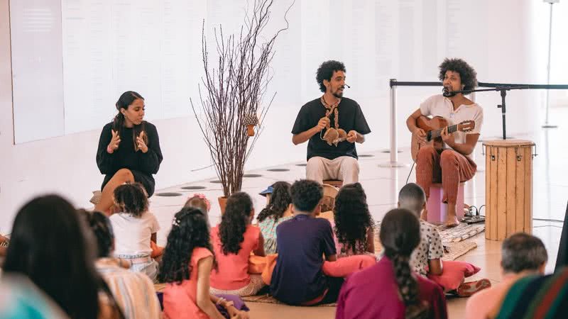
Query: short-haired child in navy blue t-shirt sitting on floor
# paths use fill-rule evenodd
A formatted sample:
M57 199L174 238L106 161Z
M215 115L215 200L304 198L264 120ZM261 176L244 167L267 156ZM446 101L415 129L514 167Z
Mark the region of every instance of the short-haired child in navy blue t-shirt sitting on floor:
M271 277L271 294L290 305L333 303L342 278L325 276L324 260L337 260L332 225L320 213L322 186L316 181L296 181L290 188L294 218L276 228L278 259Z

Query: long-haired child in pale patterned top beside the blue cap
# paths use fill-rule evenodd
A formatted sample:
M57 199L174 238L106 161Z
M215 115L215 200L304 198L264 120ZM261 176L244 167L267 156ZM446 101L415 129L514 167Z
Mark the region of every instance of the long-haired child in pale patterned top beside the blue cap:
M264 252L276 253L276 227L280 223L290 220L292 215L292 196L290 196L290 183L277 181L271 185L272 194L268 205L258 213L258 227L264 237Z

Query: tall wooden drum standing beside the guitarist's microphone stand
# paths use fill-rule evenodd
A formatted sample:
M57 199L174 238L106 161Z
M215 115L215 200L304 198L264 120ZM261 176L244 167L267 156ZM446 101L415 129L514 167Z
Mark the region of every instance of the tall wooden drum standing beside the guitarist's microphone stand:
M488 140L485 177L485 237L504 240L532 233L532 147L530 140Z

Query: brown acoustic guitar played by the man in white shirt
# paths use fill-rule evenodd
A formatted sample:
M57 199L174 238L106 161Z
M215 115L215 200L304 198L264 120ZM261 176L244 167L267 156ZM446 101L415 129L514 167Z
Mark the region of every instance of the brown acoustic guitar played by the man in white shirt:
M422 128L426 132L426 144L432 145L436 150L442 152L444 149L444 141L442 140L442 130L448 128L448 133L454 133L458 130L461 132L469 132L475 128L474 121L463 121L459 124L448 125L448 121L441 116L435 116L433 118L427 118L426 116L420 116L416 119L416 126ZM412 144L410 146L410 154L413 156L413 161L416 162L416 157L418 155L418 150L420 150L420 143L417 137L413 134Z

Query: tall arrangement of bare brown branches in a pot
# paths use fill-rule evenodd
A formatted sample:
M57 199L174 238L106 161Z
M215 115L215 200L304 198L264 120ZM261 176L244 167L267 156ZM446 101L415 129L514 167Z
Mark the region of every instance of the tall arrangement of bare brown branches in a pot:
M268 70L275 53L275 40L280 32L288 29L285 19L285 28L270 37L262 34L270 21L272 5L273 0L253 1L238 37L226 37L222 26L214 28L217 55L213 65L209 65L203 22L204 77L198 84L202 112L197 110L192 99L190 103L222 185L223 196L219 198L222 212L226 198L241 190L244 164L258 140L262 123L275 96L274 93L268 104L262 106L266 87L271 81ZM257 126L256 134L253 132L254 126Z

